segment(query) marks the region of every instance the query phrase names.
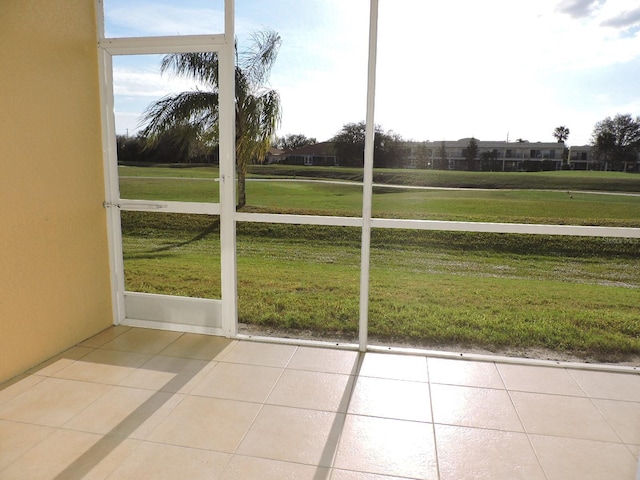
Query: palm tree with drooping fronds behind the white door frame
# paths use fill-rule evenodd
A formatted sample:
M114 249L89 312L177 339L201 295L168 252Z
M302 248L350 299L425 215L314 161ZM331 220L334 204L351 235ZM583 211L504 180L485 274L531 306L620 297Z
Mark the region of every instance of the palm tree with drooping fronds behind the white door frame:
M271 67L280 48L280 35L261 30L251 37L249 47L238 52L236 43L235 107L238 208L246 204L247 165L262 162L281 118L280 96L267 86ZM170 94L151 104L142 115L143 134L150 141L163 133L179 130L201 141L218 141L218 54L173 53L165 55L162 74L195 80L201 88Z

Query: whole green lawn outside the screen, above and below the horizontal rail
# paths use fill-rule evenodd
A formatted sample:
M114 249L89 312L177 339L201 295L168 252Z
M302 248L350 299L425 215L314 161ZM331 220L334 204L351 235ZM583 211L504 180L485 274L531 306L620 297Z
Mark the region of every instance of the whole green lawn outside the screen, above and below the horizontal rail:
M167 183L145 190L148 180ZM204 198L217 186L167 177L121 181L131 181L127 188L136 195L163 192L180 200ZM350 185L248 187L250 209L257 211L359 214L360 189ZM637 227L639 203L632 196L566 192L386 188L374 195L374 214L392 217L404 209L413 218ZM122 212L122 221L127 289L220 298L216 217ZM349 227L238 224L240 321L354 340L360 234ZM639 288L638 239L375 229L369 333L383 342L546 348L615 361L640 354Z

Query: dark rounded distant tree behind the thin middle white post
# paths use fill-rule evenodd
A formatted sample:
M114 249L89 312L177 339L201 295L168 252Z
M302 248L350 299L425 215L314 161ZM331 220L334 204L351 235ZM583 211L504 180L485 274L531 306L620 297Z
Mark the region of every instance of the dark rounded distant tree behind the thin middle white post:
M402 137L392 131L385 132L380 125L376 125L374 131L374 167L401 166L406 153L402 148ZM365 133L365 122L347 123L331 139L341 165L362 167Z

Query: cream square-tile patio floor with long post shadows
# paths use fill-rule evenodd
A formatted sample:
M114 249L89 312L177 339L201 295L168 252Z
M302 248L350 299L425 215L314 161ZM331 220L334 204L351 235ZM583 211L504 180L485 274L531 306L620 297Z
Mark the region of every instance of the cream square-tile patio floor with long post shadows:
M0 479L614 479L640 374L113 327L0 385Z

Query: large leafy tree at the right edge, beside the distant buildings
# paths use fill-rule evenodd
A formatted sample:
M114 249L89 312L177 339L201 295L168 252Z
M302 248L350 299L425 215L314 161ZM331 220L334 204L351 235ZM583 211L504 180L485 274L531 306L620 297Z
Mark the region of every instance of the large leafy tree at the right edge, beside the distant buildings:
M627 170L635 164L640 153L640 116L617 114L596 123L591 135L591 144L599 162L611 162L616 170Z

